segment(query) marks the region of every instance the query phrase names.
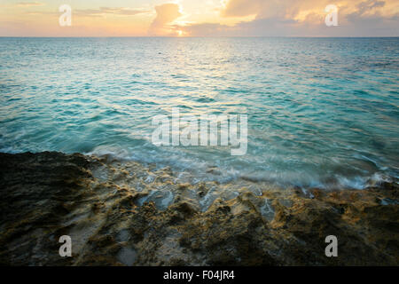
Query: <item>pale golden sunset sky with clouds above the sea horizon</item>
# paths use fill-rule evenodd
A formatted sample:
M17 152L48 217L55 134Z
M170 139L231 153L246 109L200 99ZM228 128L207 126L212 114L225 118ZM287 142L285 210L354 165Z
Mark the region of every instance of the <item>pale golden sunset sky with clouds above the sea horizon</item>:
M2 0L0 36L399 36L399 0Z

